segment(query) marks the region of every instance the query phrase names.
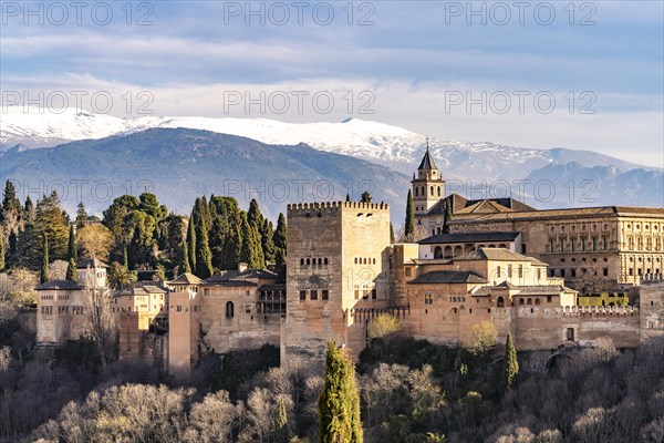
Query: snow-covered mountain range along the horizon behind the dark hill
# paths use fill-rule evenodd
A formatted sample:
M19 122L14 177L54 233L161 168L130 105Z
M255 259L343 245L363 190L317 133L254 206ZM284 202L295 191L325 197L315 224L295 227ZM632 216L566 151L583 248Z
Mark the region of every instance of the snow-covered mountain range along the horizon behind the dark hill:
M411 175L426 146L422 134L377 122L349 119L339 123L284 123L268 119L209 119L209 117L159 117L144 116L117 119L66 110L62 113L43 112L37 109L9 106L0 114L0 151L23 151L34 147L54 146L70 141L101 140L112 135L128 135L148 128L193 128L214 133L238 135L269 145L297 145L305 143L315 150L343 154L388 166ZM553 183L557 195L543 202L530 202L538 207L588 206L602 204L664 205L663 172L590 151L567 148L535 150L505 146L488 142L470 143L429 140L434 158L448 181L448 189L468 196L469 190L481 190L470 195L505 196L487 194L496 181L505 181L513 187L520 179L537 177ZM571 166L570 166L571 165ZM592 202L573 202L568 198L570 182L562 171L574 171L572 187L581 188L592 181L598 198ZM571 167L571 168L570 168ZM622 174L630 174L626 183L634 187L625 195L636 199L616 197L614 189ZM635 178L636 177L636 178ZM502 189L502 185L500 186ZM604 189L606 187L606 189ZM646 192L644 192L646 189ZM523 189L526 198L533 197L537 189ZM583 190L583 189L580 189ZM608 202L602 196L612 196ZM536 196L537 197L537 196ZM615 197L615 199L613 198Z

